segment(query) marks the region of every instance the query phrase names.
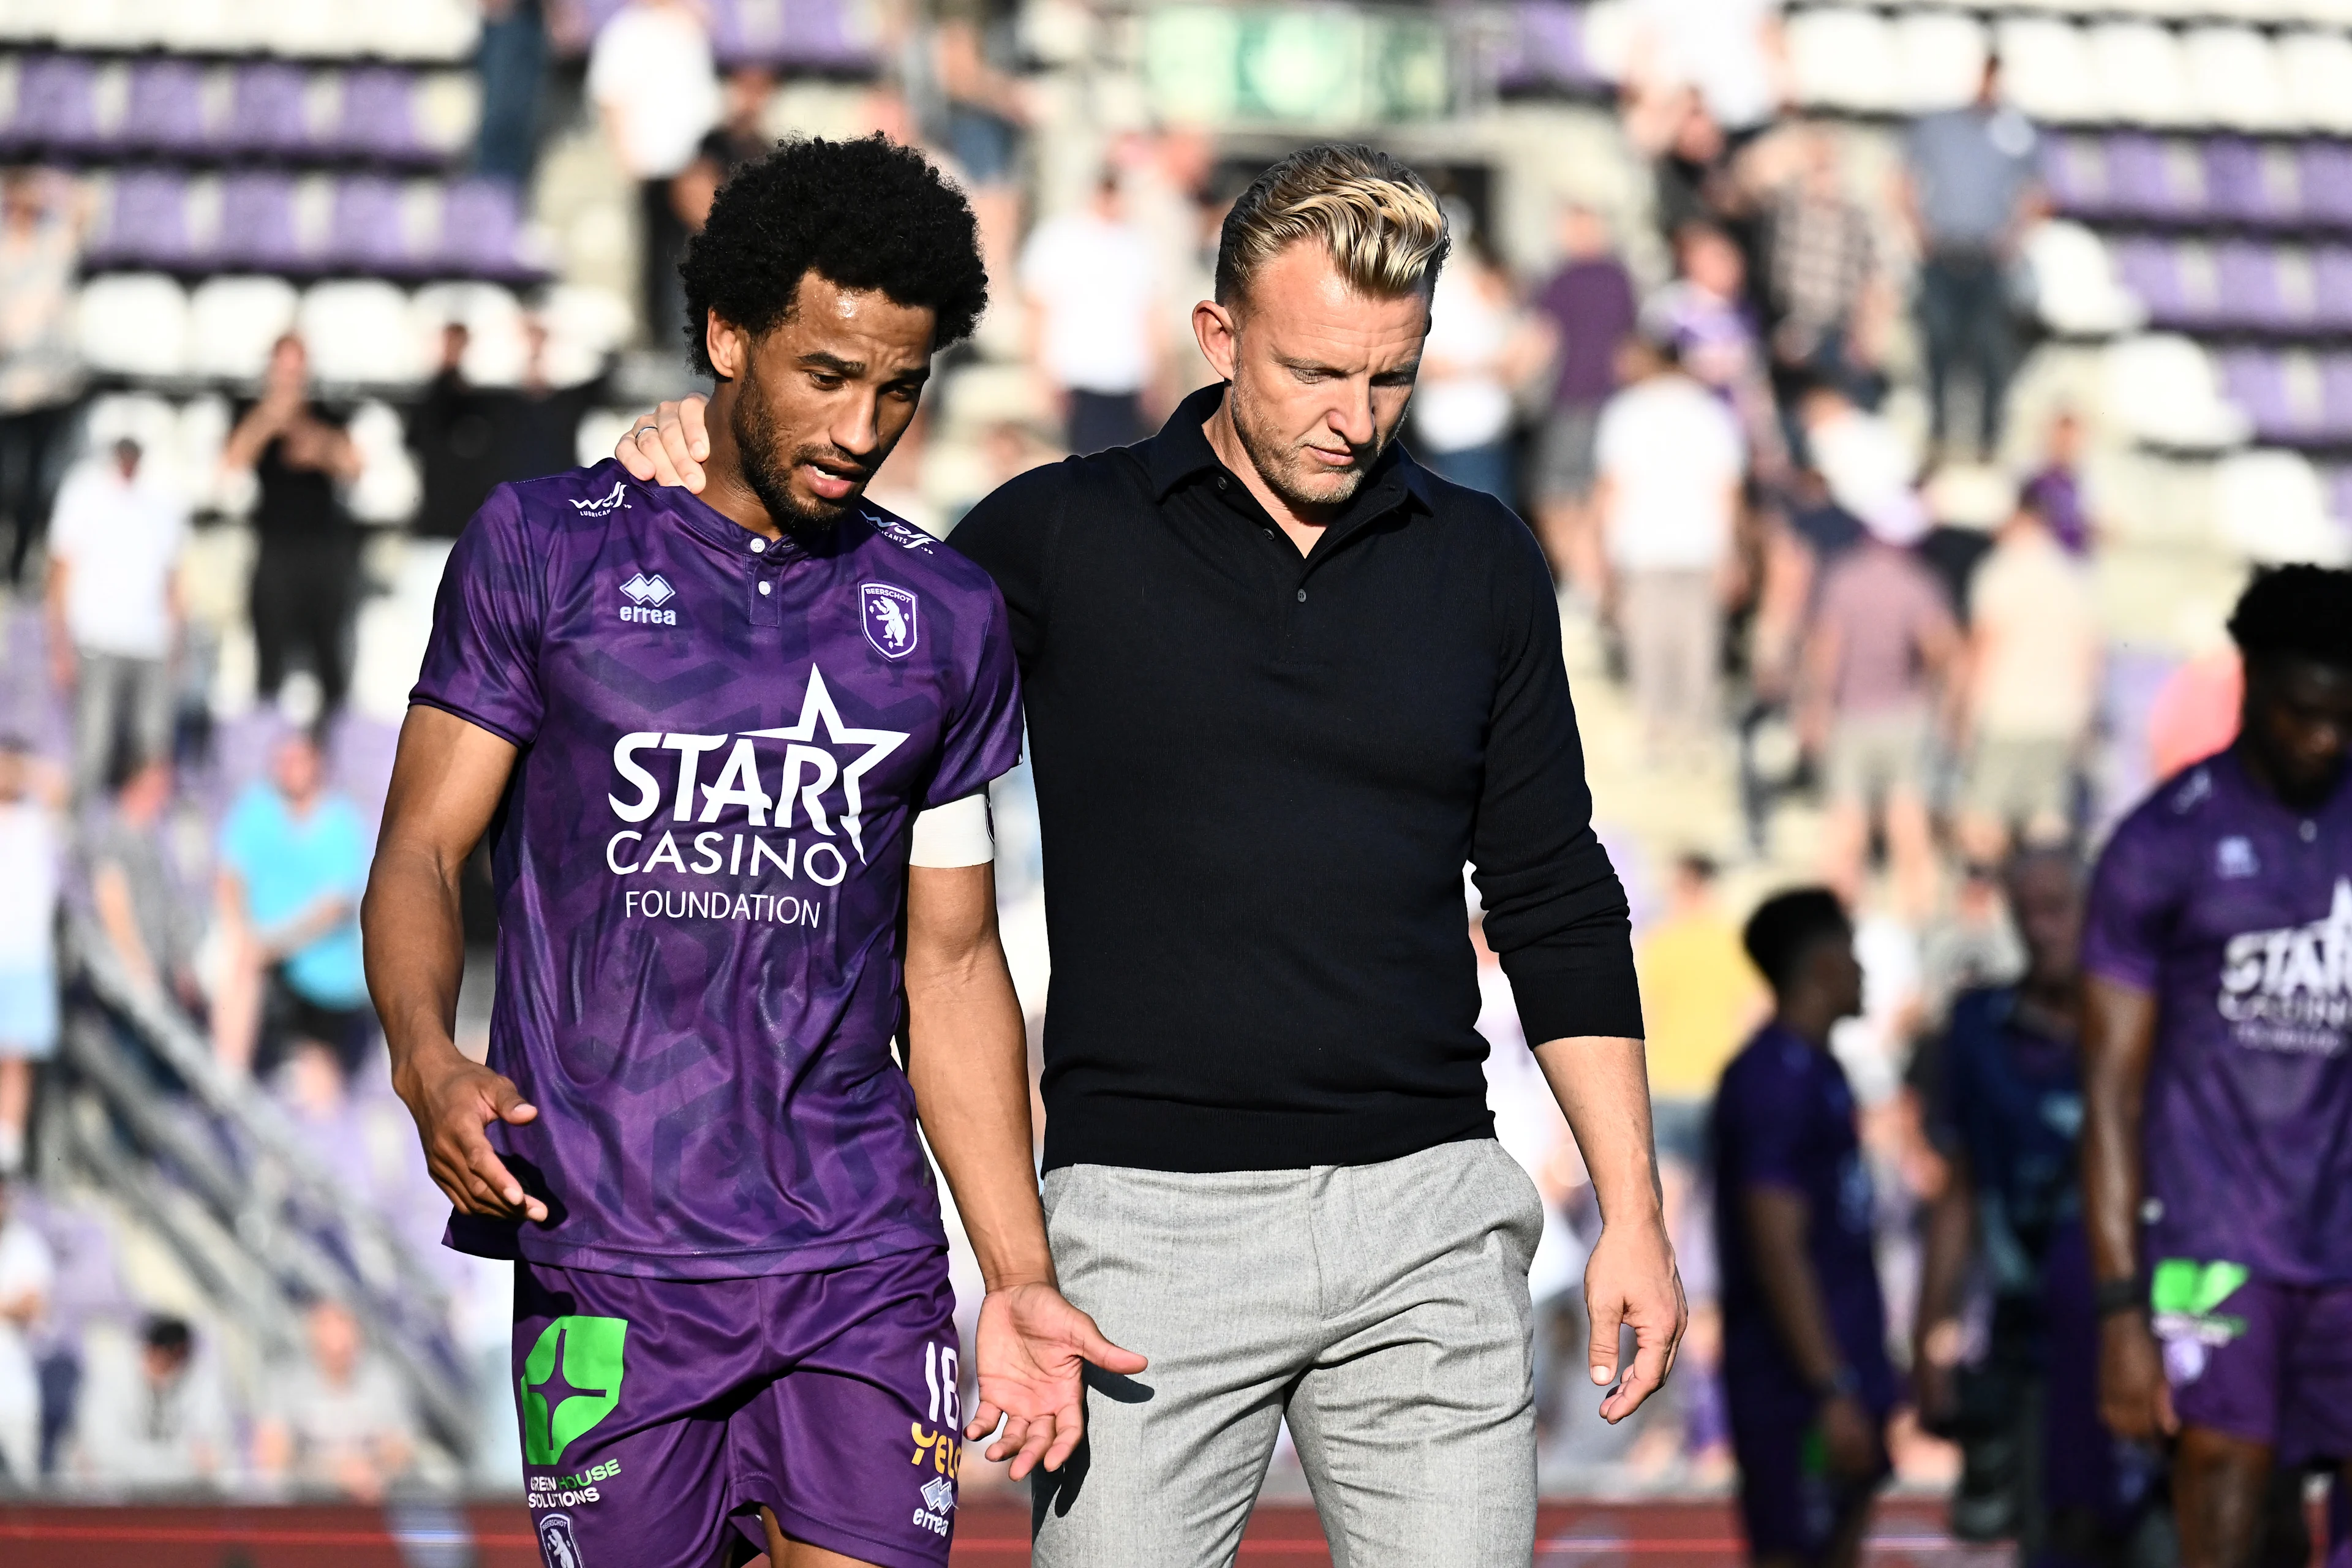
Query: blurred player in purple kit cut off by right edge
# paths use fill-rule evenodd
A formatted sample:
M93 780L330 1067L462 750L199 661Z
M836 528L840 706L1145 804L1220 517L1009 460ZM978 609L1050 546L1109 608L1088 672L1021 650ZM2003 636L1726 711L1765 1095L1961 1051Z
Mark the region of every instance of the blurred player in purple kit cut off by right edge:
M2117 827L2084 938L2100 1413L2178 1436L2185 1568L2253 1561L2274 1465L2352 1465L2352 574L2230 635L2239 738Z

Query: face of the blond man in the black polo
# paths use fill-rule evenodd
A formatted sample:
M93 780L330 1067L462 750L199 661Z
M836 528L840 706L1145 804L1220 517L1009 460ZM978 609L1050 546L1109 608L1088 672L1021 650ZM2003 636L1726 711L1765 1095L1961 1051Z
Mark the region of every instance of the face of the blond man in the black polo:
M1192 306L1209 367L1232 383L1235 435L1289 505L1343 505L1397 435L1421 374L1430 296L1362 294L1331 252L1301 240L1230 306Z

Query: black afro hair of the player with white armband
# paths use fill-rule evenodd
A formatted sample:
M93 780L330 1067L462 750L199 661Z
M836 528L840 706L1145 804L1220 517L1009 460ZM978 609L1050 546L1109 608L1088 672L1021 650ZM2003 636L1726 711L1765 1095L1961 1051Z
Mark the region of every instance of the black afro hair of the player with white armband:
M938 317L931 346L971 336L988 308L981 230L964 193L922 153L880 132L856 141L795 136L720 186L677 275L687 284L687 357L706 376L710 313L760 336L793 313L804 273L880 289Z

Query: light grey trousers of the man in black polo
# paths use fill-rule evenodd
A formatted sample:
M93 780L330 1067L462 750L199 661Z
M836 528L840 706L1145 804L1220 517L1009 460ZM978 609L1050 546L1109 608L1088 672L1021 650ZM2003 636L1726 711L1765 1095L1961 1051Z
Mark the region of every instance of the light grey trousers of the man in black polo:
M1284 1418L1336 1568L1536 1549L1534 1182L1491 1138L1378 1166L1044 1180L1061 1288L1136 1378L1037 1472L1037 1568L1232 1563Z

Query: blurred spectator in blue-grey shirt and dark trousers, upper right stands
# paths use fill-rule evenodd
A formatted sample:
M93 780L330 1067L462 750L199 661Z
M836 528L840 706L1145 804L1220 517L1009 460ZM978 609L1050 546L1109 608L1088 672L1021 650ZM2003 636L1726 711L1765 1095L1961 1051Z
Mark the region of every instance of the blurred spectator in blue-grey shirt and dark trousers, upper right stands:
M1976 101L1912 125L1900 205L1919 240L1919 329L1926 336L1931 435L1952 440L1952 383L1976 381L1978 454L2002 435L2016 346L2009 266L2037 212L2037 136L2002 103L2002 61L1985 59Z

